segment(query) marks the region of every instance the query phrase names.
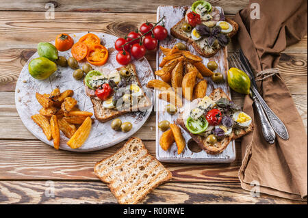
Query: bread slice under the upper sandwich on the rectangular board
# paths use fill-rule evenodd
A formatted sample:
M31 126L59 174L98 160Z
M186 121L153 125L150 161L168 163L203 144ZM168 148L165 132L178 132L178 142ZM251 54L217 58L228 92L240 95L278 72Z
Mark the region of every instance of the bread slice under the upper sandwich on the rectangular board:
M227 36L231 38L232 36L235 35L235 33L238 32L238 23L235 23L235 21L229 18L226 18L226 21L230 23L233 27L233 30L227 34ZM185 23L185 18L182 18L181 21L179 21L175 26L173 26L170 29L170 33L172 36L174 36L175 38L179 38L180 40L184 40L185 42L188 42L189 44L192 44L196 52L198 52L203 57L212 57L216 53L218 53L218 51L221 49L219 44L215 49L213 49L209 46L203 46L206 40L205 38L201 40L197 40L197 41L192 40L192 38L188 36L187 33L185 33L185 31L181 29L183 23Z

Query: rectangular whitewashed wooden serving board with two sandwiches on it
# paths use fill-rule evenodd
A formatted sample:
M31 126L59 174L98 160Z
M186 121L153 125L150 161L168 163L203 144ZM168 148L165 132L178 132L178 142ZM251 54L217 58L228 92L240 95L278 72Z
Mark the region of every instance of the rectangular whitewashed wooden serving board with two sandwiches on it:
M217 7L218 10L222 11L222 8ZM185 10L188 9L188 6L159 6L157 8L157 21L165 16L165 27L168 29L169 36L166 40L160 41L159 45L167 48L172 48L177 42L183 42L183 40L179 40L170 35L170 29L177 22L183 18ZM184 42L185 43L185 42ZM198 55L194 48L189 45L188 50ZM200 55L198 55L200 56ZM164 55L162 51L157 50L156 53L156 68L159 69L159 63L162 62L162 58ZM201 56L202 57L202 56ZM218 64L218 69L215 72L221 72L224 75L225 83L216 84L211 81L210 77L205 77L207 80L207 95L211 93L217 87L221 87L224 92L231 98L229 86L227 85L227 70L228 70L228 62L227 62L227 47L218 51L214 57L203 58L203 64L207 64L207 62L214 60ZM157 76L156 76L157 77ZM157 77L157 79L160 79ZM227 148L221 154L207 154L204 150L201 152L192 152L188 148L188 144L192 141L190 135L181 128L183 136L185 137L186 146L181 154L177 154L177 146L176 144L172 144L168 151L163 150L159 146L159 139L162 136L162 131L159 131L158 123L162 120L168 120L170 123L175 123L177 120L177 116L181 113L181 109L175 115L170 115L164 111L164 108L168 103L164 100L158 99L158 91L155 91L156 103L155 103L155 111L156 111L156 158L159 161L163 162L181 162L181 163L230 163L235 160L235 141L231 141ZM188 100L183 98L183 105L188 104ZM183 109L183 107L182 107Z

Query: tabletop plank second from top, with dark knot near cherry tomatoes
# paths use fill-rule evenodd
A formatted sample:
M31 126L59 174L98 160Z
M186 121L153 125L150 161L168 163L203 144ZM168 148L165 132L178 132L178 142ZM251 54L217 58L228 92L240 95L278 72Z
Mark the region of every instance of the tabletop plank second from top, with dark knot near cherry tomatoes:
M232 18L233 15L227 17ZM38 42L52 41L62 32L101 31L123 37L146 20L155 22L156 14L142 13L136 16L133 13L58 12L55 19L48 20L44 18L44 12L0 12L0 48L36 49ZM229 51L234 49L233 44L228 46ZM307 36L290 46L287 52L307 53Z

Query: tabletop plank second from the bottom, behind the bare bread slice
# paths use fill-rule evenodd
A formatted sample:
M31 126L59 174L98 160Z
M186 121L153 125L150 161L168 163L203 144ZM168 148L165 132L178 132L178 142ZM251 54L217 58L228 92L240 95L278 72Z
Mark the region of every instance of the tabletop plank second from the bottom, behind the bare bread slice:
M41 141L0 140L0 180L98 180L93 174L94 164L114 154L124 143L79 153L55 150ZM155 141L144 141L144 145L155 156ZM175 182L239 182L240 144L236 148L237 159L233 163L164 165Z

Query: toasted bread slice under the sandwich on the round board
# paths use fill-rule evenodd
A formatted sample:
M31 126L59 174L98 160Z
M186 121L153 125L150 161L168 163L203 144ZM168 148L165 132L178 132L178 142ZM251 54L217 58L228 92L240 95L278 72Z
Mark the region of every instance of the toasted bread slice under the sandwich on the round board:
M134 64L128 64L127 66L123 66L117 68L116 70L121 70L121 68L128 68L133 74L136 75L136 79L138 82L139 87L142 87L138 78L138 74L136 73L136 66ZM107 122L108 120L112 120L114 118L119 117L125 113L129 113L129 111L118 111L116 109L107 109L103 107L103 101L97 100L96 98L91 98L91 102L93 105L94 116L99 120L99 122ZM151 100L144 95L144 102L142 105L138 105L138 109L144 109L151 106ZM137 107L131 107L130 111L137 111Z

